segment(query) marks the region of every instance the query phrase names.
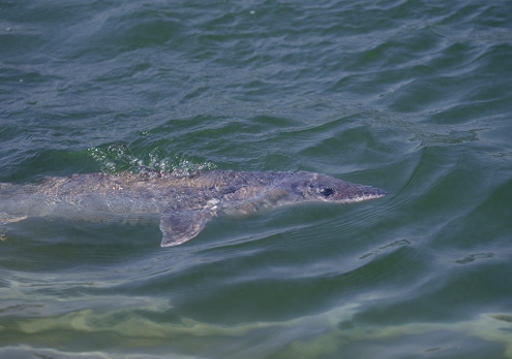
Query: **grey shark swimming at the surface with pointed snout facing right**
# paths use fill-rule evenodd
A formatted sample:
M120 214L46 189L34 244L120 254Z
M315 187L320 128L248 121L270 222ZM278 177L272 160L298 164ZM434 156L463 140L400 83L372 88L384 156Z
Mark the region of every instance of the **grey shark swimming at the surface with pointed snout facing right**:
M199 234L221 214L323 201L351 203L387 195L380 188L310 172L206 171L193 175L123 172L0 183L0 224L33 216L116 218L160 216L162 247Z

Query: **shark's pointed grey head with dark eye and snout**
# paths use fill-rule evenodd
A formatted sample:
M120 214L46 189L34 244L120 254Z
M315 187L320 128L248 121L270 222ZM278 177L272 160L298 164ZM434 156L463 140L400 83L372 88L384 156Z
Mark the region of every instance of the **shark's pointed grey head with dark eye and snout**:
M309 172L297 173L292 189L296 194L300 194L304 200L338 203L360 202L388 194L377 187L354 184Z

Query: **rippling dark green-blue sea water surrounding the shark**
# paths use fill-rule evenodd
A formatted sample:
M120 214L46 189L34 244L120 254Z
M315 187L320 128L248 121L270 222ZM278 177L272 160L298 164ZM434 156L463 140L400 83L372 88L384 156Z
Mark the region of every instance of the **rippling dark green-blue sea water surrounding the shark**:
M510 1L0 1L0 181L219 168L386 189L219 218L27 219L2 358L512 358Z

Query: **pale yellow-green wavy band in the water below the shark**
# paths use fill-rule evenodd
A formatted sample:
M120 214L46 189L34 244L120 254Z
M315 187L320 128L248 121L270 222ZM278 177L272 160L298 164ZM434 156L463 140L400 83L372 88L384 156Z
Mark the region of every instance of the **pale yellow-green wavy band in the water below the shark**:
M199 344L194 337L210 337L219 340L224 337L240 337L249 335L256 330L269 330L282 332L291 330L297 333L291 342L281 345L279 350L283 357L313 358L318 355L339 352L345 345L357 341L380 340L399 337L401 335L419 335L436 331L450 331L463 335L478 337L481 340L501 343L505 347L504 355L512 358L512 318L508 313L483 313L474 319L455 323L429 323L417 322L391 326L370 326L357 324L343 325L349 322L357 313L356 304L336 307L332 310L307 315L282 322L251 322L238 325L225 326L199 322L183 318L179 322L165 323L144 318L141 311L159 313L170 308L162 303L152 304L143 300L132 306L122 309L100 310L84 309L55 315L47 318L33 318L19 321L13 328L23 334L44 334L45 332L63 330L74 332L104 332L121 337L131 338L139 345L151 346L166 340L186 338L183 343L193 350ZM340 323L342 323L340 325ZM319 333L311 337L306 333ZM302 339L307 337L308 339ZM283 343L282 343L283 344ZM206 344L205 344L206 345ZM428 348L424 348L425 350ZM196 350L193 350L196 351Z

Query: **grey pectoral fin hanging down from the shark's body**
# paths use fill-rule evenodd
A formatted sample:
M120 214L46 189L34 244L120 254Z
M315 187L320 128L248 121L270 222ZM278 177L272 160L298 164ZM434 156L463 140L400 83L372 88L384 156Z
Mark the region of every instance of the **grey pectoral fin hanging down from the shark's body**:
M196 237L211 216L203 210L169 210L160 219L162 247L181 244Z

